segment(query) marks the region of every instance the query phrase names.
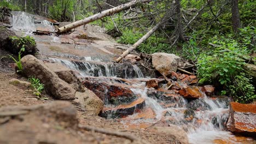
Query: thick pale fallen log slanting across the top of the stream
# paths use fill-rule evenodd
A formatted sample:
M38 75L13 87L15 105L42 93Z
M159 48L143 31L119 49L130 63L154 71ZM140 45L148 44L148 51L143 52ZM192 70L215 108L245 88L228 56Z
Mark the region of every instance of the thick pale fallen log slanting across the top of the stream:
M67 31L69 31L69 30L71 30L73 28L76 28L76 27L85 25L85 24L87 24L89 22L101 19L104 16L109 16L109 15L113 15L115 13L119 13L120 11L129 9L130 7L134 7L135 5L137 5L140 2L141 1L138 1L138 0L137 1L132 1L132 2L129 2L129 3L126 3L126 4L119 5L118 7L114 7L112 9L104 10L101 13L92 15L90 17L87 17L87 18L83 19L83 20L76 21L76 22L73 22L73 23L71 23L69 25L66 25L64 27L58 28L57 33L67 32Z

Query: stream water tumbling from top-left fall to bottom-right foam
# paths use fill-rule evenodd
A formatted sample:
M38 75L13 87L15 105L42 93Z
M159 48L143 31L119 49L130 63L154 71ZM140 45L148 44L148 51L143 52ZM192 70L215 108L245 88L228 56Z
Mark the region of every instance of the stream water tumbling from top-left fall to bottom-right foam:
M24 31L26 33L36 31L38 25L49 29L53 28L50 22L46 20L35 22L33 17L26 13L15 13L12 25L15 31ZM58 43L58 40L59 38L49 35L49 43ZM185 118L184 112L189 110L193 103L183 97L178 97L173 105L163 106L161 100L158 100L154 95L148 94L150 89L145 86L145 82L139 81L139 79L144 79L145 77L141 69L136 65L104 62L101 57L72 57L71 60L68 56L63 56L62 58L48 57L48 59L53 63L61 63L72 70L78 71L80 77L102 77L101 80L104 82L108 82L109 77L121 77L128 81L136 79L135 82L133 81L133 83L128 83L127 85L131 87L130 90L133 94L145 100L143 110L152 110L153 117L136 119L139 113L135 112L133 115L121 119L121 122L127 127L137 125L141 128L142 125L159 123L164 120L165 124L175 124L183 128L188 134L189 143L254 143L249 138L242 137L238 139L225 130L224 125L229 113L229 107L225 100L212 99L204 95L194 105L202 107L202 109L195 110L194 118L188 120ZM109 82L119 85L116 81ZM113 115L113 113L114 111L110 115ZM146 115L149 115L149 113L146 113Z

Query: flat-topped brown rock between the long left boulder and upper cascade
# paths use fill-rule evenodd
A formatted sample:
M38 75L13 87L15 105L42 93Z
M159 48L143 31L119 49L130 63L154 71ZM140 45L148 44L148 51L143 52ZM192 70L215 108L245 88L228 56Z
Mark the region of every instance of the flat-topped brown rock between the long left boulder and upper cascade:
M82 82L78 79L78 77L75 75L74 71L71 69L68 69L62 64L58 63L45 63L45 65L54 73L56 73L61 80L67 82L71 87L73 87L76 91L84 91L84 87L82 85Z

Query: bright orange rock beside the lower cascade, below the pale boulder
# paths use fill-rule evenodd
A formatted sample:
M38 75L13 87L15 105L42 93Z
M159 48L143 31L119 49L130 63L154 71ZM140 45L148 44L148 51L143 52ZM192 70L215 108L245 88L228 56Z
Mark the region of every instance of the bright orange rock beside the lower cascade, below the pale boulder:
M199 87L188 87L188 88L182 88L179 90L179 94L181 94L184 98L190 98L190 99L197 99L202 98L203 95L200 92Z

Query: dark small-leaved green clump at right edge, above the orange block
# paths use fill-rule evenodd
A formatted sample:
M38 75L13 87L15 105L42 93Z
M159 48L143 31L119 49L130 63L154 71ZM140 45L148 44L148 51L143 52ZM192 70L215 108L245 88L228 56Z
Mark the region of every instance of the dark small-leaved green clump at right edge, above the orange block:
M251 79L247 78L245 73L234 77L231 85L228 86L228 91L235 101L251 103L253 99L256 99L255 89L250 82Z

